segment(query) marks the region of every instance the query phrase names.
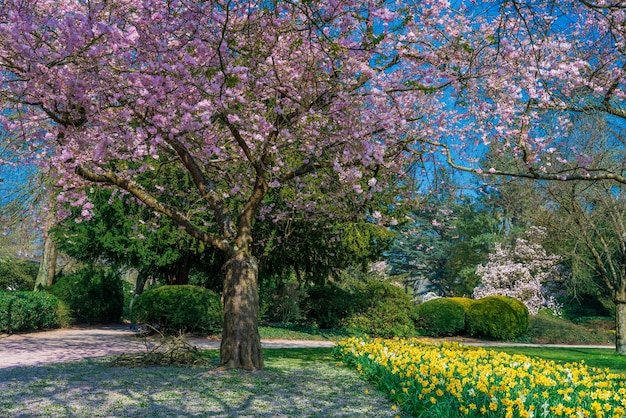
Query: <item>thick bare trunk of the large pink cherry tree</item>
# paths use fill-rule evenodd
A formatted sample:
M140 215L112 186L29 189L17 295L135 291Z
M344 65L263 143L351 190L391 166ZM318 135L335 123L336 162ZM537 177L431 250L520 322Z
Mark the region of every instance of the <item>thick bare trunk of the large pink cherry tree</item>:
M224 327L220 364L224 368L263 369L259 335L259 267L238 254L224 265Z

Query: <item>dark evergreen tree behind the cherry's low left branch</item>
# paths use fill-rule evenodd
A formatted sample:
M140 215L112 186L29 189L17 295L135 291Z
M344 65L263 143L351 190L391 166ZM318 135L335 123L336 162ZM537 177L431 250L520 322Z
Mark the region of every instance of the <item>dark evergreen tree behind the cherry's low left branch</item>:
M172 184L192 187L186 176L178 175L170 178ZM169 218L104 188L93 188L89 199L94 204L92 219L74 222L80 208L73 208L72 216L52 231L65 254L86 263L105 259L115 266L134 267L168 284L186 284L197 271L207 274L196 277L200 281L219 277L221 254L205 248Z

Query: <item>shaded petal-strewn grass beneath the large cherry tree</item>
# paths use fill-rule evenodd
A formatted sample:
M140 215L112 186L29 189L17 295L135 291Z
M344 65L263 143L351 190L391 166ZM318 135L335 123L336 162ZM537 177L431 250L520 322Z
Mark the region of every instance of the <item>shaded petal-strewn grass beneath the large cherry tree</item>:
M111 358L0 370L2 417L394 417L331 349L266 349L265 370L111 367Z

